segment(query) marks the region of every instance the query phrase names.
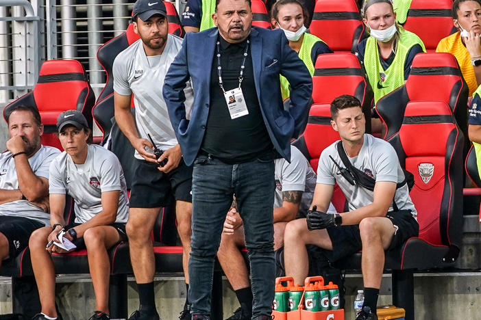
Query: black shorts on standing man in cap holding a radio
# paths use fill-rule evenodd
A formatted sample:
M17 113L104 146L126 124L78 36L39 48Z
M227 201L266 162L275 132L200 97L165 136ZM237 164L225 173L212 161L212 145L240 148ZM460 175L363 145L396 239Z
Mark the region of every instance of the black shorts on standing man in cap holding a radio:
M165 174L156 163L136 159L130 208L167 206L172 199L192 202L192 167L182 159L179 166Z

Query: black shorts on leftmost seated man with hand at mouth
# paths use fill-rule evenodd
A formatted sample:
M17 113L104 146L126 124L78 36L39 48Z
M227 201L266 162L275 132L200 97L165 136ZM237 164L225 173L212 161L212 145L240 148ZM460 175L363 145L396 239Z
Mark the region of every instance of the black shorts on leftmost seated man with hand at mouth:
M14 258L27 248L32 232L43 226L38 220L0 215L0 232L8 239L8 256Z

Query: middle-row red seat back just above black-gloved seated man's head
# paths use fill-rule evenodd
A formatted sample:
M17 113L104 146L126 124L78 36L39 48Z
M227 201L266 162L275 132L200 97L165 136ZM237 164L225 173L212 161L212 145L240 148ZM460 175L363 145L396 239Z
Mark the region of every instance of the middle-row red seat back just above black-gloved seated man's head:
M359 99L366 117L367 133L371 132L373 92L358 58L351 53L319 55L312 77L312 100L314 103L330 104L342 94L351 94Z

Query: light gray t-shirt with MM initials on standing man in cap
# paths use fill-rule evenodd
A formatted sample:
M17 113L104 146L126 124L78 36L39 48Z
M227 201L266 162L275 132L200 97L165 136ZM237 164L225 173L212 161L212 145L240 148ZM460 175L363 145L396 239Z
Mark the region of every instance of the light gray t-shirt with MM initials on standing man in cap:
M182 38L169 34L162 55L145 55L142 40L137 40L116 56L113 66L114 90L123 96L134 94L138 135L148 139L149 133L161 150L177 144L177 138L169 120L167 105L162 96L165 75L173 59L182 47ZM184 89L186 114L189 118L193 105L190 81ZM135 157L143 159L135 152Z

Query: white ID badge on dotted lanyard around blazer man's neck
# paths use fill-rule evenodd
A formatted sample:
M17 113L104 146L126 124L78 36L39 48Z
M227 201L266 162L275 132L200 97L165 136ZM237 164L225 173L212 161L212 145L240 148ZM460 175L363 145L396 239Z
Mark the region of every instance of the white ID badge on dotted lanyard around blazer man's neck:
M219 75L219 85L221 86L222 92L224 93L225 103L227 104L227 109L229 109L229 114L231 119L240 118L243 116L247 116L249 114L249 110L247 109L247 105L245 104L244 94L242 89L240 88L240 84L243 81L244 69L245 69L245 59L247 57L247 51L249 49L250 41L247 40L247 45L245 46L244 52L244 59L242 65L240 66L240 75L239 75L239 86L238 88L234 88L232 90L224 90L223 82L222 82L222 68L221 68L221 49L220 49L220 42L217 41L217 73Z

